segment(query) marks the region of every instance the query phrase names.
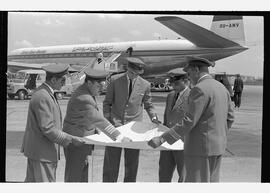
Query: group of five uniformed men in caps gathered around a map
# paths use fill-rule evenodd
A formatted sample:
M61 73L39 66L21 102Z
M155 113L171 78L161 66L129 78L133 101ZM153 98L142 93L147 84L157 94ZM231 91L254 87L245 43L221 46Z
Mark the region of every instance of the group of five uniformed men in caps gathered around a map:
M104 132L112 140L130 142L116 127L143 120L143 108L150 120L161 124L152 103L150 83L140 75L145 64L127 58L127 72L111 77L99 111L95 97L106 72L87 68L84 83L72 94L64 120L54 90L65 84L69 65L48 65L46 81L29 103L21 151L27 157L25 182L55 182L60 146L66 158L65 182L88 182L88 159L94 146L83 137ZM227 89L208 71L212 63L190 57L183 69L169 73L173 91L167 96L164 125L168 132L148 142L153 148L182 139L184 150L161 151L159 182L170 182L177 168L178 182L218 182L227 132L234 115ZM193 85L190 89L189 84ZM97 129L98 128L98 129ZM122 148L106 147L103 182L117 182ZM139 149L123 148L124 182L136 182Z

